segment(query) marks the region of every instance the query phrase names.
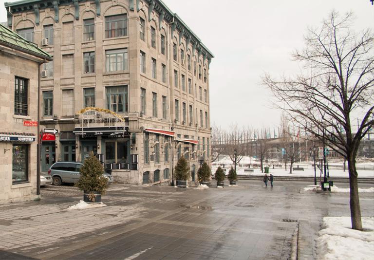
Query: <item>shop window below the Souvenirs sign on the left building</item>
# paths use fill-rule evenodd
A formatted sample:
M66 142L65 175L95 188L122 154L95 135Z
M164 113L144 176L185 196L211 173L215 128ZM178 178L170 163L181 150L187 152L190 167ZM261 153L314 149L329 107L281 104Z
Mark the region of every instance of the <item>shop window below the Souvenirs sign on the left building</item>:
M12 179L13 184L29 180L29 145L13 144Z

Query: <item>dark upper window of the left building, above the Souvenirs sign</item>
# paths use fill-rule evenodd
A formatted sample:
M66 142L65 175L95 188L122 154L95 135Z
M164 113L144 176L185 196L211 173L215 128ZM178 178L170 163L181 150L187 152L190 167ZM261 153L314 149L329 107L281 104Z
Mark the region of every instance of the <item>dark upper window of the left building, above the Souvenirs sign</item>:
M28 111L28 80L15 78L14 114L27 115Z

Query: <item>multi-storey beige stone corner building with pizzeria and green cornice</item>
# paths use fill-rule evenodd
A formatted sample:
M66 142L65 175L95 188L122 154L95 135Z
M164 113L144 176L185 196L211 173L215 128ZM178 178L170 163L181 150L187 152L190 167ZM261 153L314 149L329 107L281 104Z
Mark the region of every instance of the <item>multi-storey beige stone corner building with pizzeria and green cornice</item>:
M212 53L160 0L5 3L8 26L54 57L41 69L41 167L98 154L115 180L169 182L210 156Z

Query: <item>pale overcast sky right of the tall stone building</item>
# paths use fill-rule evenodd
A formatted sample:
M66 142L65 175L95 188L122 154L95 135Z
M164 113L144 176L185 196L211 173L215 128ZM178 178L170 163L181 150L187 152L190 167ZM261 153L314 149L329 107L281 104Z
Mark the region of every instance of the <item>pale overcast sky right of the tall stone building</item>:
M215 56L209 69L211 124L224 128L279 125L280 111L270 107L261 76L297 74L292 51L303 47L307 27L319 26L333 9L353 11L357 30L374 29L370 0L163 1ZM4 0L0 3L5 21Z

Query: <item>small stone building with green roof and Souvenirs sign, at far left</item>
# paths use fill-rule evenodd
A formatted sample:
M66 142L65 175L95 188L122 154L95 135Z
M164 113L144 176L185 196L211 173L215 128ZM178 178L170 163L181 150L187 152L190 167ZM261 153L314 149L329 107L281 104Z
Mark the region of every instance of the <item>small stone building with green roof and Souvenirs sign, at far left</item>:
M0 24L0 203L37 195L39 65L51 57Z

